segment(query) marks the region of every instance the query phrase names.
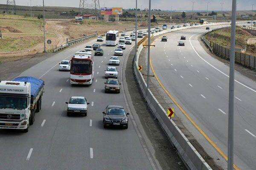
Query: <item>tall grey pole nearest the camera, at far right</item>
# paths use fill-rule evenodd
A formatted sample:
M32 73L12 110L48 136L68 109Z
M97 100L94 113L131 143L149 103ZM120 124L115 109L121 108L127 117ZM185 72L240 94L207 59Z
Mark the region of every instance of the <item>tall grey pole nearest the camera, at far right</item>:
M231 47L230 47L230 78L229 78L229 104L228 104L228 144L227 144L227 169L233 170L234 163L234 65L236 48L236 0L232 2L231 22Z

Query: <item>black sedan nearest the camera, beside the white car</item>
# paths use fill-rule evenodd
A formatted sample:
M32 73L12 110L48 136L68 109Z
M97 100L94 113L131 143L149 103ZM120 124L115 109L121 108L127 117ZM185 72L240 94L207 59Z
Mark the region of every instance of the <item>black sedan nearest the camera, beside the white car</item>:
M128 114L126 113L124 107L116 105L108 105L102 112L103 125L106 127L123 127L128 128Z

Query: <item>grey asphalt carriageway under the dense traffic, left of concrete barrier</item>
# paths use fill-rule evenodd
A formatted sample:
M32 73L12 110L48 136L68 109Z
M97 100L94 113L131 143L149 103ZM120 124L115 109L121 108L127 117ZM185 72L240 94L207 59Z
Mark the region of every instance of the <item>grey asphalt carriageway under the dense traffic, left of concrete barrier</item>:
M128 129L104 129L102 111L107 105L122 105L129 110L123 87L120 94L105 94L105 69L114 48L99 42L104 56L93 57L94 80L91 86L71 86L70 73L58 71L58 63L71 59L76 51L96 43L96 39L73 45L53 57L22 72L45 81L42 110L36 113L28 133L0 130L1 170L157 170L158 167L143 143L136 124L129 115ZM134 45L126 45L124 62ZM122 81L122 65L119 80ZM86 117L67 117L70 96L85 96L90 102Z

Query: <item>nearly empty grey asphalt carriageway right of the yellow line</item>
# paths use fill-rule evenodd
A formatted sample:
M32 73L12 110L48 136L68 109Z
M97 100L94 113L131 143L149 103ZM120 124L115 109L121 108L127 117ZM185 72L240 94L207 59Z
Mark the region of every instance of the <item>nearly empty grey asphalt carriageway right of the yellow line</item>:
M198 37L205 31L190 28L166 34L167 42L156 39L151 62L163 86L227 155L229 66L201 46ZM181 35L185 46L177 46ZM237 71L235 79L234 163L241 170L255 170L256 82Z

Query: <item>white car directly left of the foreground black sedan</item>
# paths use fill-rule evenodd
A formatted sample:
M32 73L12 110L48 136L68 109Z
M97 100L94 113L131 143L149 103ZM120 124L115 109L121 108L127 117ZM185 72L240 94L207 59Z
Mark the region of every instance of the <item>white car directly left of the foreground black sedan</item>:
M83 116L87 116L87 100L83 96L72 96L67 104L67 116L74 114L82 114Z

